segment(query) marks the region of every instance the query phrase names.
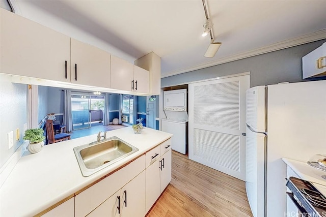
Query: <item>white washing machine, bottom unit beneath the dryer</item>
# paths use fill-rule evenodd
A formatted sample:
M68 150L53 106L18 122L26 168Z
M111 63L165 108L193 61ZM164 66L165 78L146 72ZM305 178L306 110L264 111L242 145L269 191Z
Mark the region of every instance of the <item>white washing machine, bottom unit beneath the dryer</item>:
M188 120L165 118L161 119L161 131L173 134L172 150L186 154Z

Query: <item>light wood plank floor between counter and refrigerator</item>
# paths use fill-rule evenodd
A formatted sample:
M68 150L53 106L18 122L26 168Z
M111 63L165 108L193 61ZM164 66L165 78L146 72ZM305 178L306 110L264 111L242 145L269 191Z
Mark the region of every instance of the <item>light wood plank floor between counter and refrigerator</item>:
M172 151L172 180L147 216L252 217L245 182Z

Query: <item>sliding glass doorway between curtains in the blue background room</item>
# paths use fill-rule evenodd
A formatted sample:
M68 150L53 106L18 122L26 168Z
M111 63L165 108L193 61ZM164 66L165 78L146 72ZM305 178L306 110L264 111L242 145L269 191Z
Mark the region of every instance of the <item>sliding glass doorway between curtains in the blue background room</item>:
M89 93L71 94L71 114L73 130L103 125L104 95Z

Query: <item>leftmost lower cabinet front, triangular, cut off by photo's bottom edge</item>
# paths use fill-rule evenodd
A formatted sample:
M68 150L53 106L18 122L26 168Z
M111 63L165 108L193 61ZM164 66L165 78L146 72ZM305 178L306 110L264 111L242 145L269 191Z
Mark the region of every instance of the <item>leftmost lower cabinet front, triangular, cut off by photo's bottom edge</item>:
M75 198L70 198L66 202L60 204L54 209L46 212L43 217L73 217L75 215Z

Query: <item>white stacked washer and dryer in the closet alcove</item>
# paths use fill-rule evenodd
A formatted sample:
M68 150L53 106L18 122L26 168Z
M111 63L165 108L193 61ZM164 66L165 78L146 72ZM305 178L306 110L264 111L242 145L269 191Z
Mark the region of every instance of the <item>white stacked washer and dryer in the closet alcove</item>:
M163 110L167 118L161 119L161 131L173 134L172 150L186 154L188 113L187 89L163 92Z

